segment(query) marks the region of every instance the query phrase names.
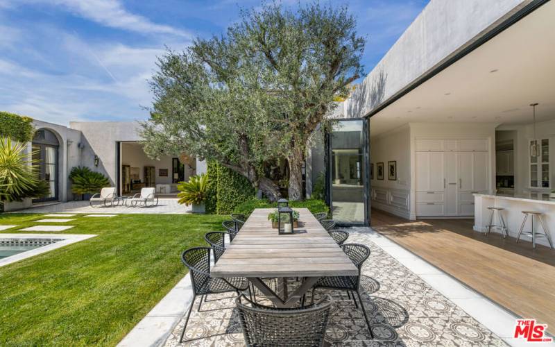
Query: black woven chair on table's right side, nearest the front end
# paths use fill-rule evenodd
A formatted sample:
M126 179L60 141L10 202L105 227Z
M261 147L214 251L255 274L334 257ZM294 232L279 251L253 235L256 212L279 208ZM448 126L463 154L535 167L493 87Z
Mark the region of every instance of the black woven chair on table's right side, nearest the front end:
M357 305L357 300L355 299L355 294L353 292L357 292L357 296L359 297L359 303L364 314L364 319L366 319L366 325L368 325L368 332L370 332L370 338L374 338L374 334L372 332L372 327L370 326L370 321L368 321L368 316L366 315L366 310L364 310L364 303L362 303L362 299L360 297L360 271L362 268L362 264L368 259L370 256L370 248L365 246L364 244L342 244L341 249L343 252L349 257L355 266L359 269L359 274L357 276L329 276L323 277L316 282L314 287L312 287L312 302L314 302L314 291L318 288L323 289L332 289L332 290L345 290L347 293L351 293L352 301L355 302L355 307L359 308ZM350 296L349 296L350 297Z

